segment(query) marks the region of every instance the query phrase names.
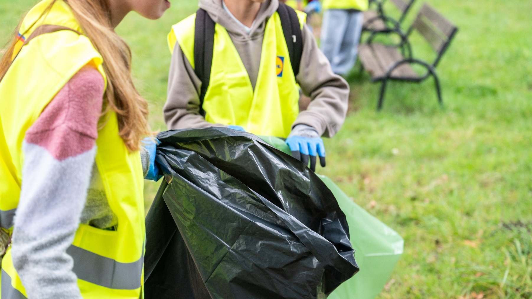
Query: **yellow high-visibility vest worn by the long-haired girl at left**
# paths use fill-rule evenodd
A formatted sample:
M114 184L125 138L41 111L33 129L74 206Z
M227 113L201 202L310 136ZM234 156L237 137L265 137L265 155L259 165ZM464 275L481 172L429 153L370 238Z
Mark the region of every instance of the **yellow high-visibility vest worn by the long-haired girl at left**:
M22 23L21 33L39 18L52 0L38 3ZM42 24L82 29L70 7L58 0L22 39ZM13 231L13 216L22 184L22 141L26 131L63 86L85 65L104 78L102 56L84 35L70 30L43 34L20 49L0 82L0 226ZM67 253L84 298L143 296L144 200L140 153L131 153L119 135L114 112L102 117L96 140L96 165L111 210L118 218L115 230L80 225ZM37 170L36 170L37 171ZM29 182L31 184L31 182ZM2 299L25 298L26 290L13 267L11 247L2 260Z

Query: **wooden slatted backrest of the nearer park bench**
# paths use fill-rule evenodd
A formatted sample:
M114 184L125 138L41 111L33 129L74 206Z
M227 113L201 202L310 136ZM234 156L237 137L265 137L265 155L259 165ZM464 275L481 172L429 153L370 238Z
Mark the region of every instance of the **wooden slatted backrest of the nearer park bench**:
M434 51L438 53L438 57L434 63L435 66L438 64L441 56L446 51L458 30L456 26L427 3L424 3L421 7L418 16L415 18L409 29L408 35L410 35L414 29L417 30L433 47Z

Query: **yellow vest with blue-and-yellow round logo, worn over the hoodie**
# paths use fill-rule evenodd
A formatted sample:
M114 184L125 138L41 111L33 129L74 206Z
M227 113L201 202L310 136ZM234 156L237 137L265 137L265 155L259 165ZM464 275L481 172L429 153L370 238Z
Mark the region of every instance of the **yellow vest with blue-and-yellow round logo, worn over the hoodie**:
M297 14L303 28L306 15ZM172 26L168 35L170 51L178 41L193 68L195 22L194 14ZM215 25L210 85L203 103L205 120L242 126L255 135L287 137L300 112L299 97L277 12L266 24L255 89L227 30Z

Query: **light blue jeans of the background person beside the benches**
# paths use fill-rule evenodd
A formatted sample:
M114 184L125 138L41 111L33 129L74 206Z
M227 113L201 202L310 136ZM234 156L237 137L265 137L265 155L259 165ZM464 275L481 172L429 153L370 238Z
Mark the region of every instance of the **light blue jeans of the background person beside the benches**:
M363 16L355 10L326 10L321 28L321 51L332 71L345 76L354 67L359 54Z

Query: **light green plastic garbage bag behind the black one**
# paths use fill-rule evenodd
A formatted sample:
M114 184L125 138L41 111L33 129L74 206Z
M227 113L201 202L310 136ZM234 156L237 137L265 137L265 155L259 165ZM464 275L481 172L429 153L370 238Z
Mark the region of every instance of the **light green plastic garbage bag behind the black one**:
M265 142L290 154L282 139L261 137ZM345 281L329 299L373 299L384 288L403 253L404 241L393 229L354 203L331 179L318 175L336 197L345 213L355 259L360 271Z

